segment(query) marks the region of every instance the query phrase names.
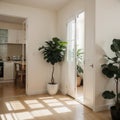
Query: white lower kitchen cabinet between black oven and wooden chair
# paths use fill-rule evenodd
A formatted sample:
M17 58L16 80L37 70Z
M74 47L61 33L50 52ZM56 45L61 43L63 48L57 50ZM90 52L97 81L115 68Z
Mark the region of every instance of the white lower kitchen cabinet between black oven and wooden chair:
M14 62L4 62L4 80L14 79Z

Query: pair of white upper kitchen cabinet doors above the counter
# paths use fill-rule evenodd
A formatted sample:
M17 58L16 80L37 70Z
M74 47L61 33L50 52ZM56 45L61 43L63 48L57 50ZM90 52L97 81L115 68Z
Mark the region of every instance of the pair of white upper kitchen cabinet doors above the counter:
M8 43L11 44L25 44L24 30L9 29Z

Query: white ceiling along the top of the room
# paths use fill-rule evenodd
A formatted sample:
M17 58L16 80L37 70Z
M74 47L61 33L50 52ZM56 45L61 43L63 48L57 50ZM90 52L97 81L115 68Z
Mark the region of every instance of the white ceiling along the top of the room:
M0 0L3 2L59 10L73 0Z

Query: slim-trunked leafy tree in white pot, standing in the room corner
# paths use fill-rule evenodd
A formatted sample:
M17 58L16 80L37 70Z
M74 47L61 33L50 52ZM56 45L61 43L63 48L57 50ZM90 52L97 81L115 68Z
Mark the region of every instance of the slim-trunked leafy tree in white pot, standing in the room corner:
M67 42L61 41L54 37L50 41L45 42L45 46L39 48L42 51L46 62L52 65L51 82L47 85L47 90L50 95L54 95L58 91L58 84L54 80L55 64L64 60Z

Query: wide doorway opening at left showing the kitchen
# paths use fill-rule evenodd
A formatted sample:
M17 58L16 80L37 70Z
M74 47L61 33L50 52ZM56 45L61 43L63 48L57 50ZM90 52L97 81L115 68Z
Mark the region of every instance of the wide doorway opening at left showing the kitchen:
M26 18L0 15L0 97L26 93Z

